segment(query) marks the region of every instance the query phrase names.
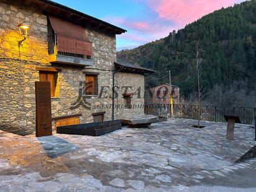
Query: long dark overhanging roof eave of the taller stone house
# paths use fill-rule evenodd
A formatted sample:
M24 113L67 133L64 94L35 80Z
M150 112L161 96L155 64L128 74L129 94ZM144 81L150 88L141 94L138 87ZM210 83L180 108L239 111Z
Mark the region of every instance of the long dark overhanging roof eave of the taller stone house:
M46 14L65 18L69 21L75 22L76 24L91 27L92 29L98 29L102 32L109 34L122 34L127 32L127 30L117 27L116 25L109 24L108 22L89 16L83 12L76 11L70 7L63 6L57 2L50 0L22 0L22 2L24 2L24 4L33 3Z

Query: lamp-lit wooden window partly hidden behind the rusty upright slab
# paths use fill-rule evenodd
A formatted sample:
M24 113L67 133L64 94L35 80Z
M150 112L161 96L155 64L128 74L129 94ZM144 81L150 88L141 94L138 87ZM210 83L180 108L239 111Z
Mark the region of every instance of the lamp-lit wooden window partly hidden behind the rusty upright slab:
M51 97L58 96L56 91L58 73L52 71L39 71L40 81L50 82Z

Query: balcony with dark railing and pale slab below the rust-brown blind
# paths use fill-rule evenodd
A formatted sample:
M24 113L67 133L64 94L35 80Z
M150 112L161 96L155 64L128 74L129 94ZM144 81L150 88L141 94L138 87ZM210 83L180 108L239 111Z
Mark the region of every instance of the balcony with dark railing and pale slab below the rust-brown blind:
M78 43L75 43L75 46L77 45ZM78 53L60 51L58 49L56 34L48 35L48 53L49 53L50 63L58 63L63 65L75 65L75 66L92 66L93 65L93 57L91 55L81 55Z

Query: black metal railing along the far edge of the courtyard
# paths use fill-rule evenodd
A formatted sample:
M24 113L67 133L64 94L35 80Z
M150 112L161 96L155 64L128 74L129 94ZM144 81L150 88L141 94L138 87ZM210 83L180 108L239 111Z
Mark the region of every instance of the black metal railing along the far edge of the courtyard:
M170 117L170 104L146 104L145 114ZM200 106L202 121L225 122L224 115L239 116L242 124L253 124L256 108L232 106ZM181 119L198 119L198 106L173 104L173 116Z

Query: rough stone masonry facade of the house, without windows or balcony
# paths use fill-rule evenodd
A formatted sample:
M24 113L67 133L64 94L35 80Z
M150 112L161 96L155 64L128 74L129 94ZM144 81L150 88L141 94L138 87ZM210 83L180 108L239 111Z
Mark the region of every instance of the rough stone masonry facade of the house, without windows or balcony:
M17 41L22 37L17 25L21 22L31 25L29 39L19 49ZM83 114L80 123L93 122L94 112L106 111L104 120L111 120L111 107L99 107L112 104L112 70L116 61L116 37L85 29L93 43L93 66L77 68L57 65L57 86L59 96L52 98L52 116ZM15 134L33 134L35 132L35 81L39 81L40 68L52 68L48 62L47 16L36 7L24 6L17 1L0 2L0 129ZM55 67L55 66L54 66ZM92 69L93 68L93 69ZM78 99L80 82L85 81L84 71L97 72L99 91L101 87L110 87L104 98L98 96L86 98L91 109L80 106L70 109ZM116 73L115 85L132 86L130 92L140 87L141 97L132 98L134 104L144 104L144 75ZM122 92L115 99L115 104L123 102ZM115 119L143 114L144 109L115 109ZM53 122L54 125L54 122Z

